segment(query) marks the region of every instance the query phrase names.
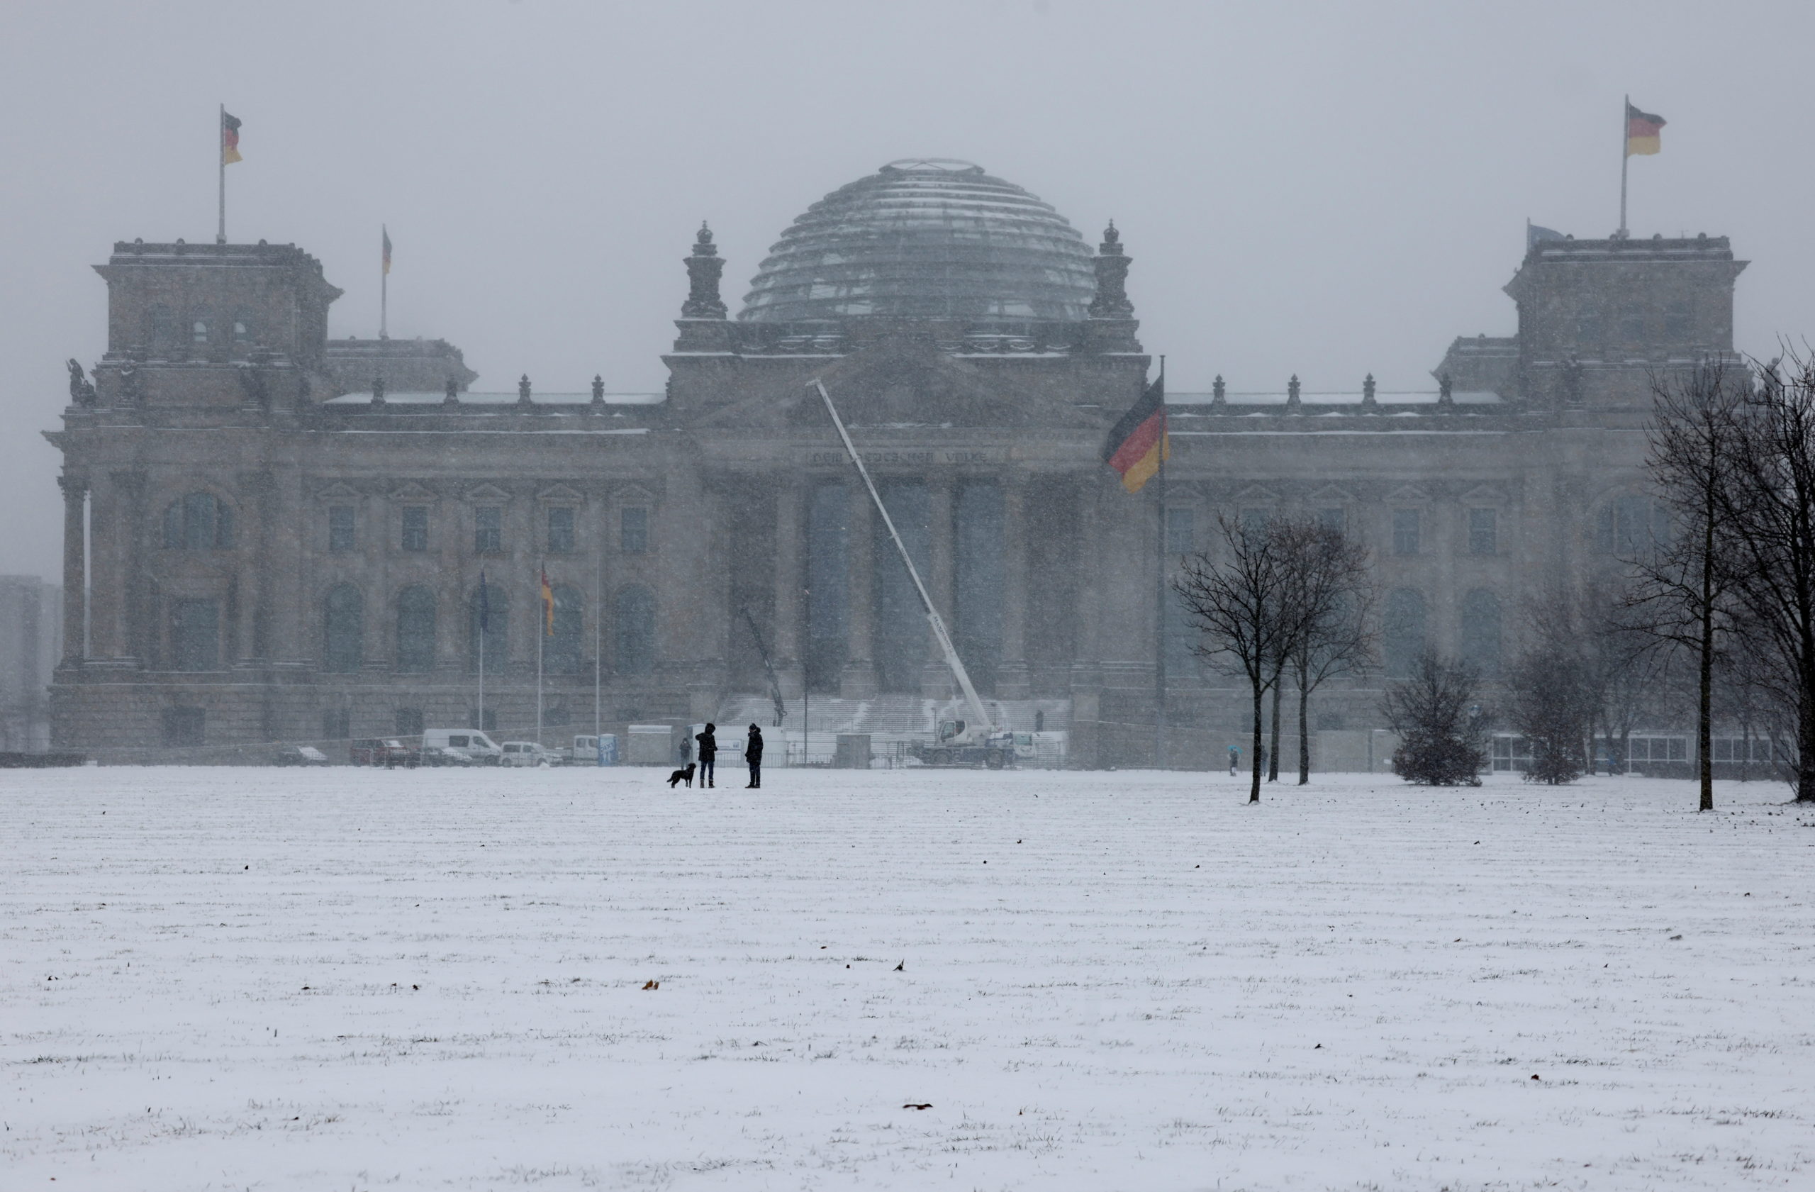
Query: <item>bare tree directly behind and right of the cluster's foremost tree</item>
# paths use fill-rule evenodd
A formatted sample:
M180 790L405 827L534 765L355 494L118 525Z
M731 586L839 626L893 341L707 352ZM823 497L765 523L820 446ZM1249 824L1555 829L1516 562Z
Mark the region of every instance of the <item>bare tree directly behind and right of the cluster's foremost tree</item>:
M1298 680L1298 784L1305 786L1310 782L1310 693L1325 679L1365 669L1372 662L1374 586L1367 548L1341 530L1303 519L1280 523L1272 533L1287 570L1285 610L1294 619L1285 644L1285 669ZM1278 680L1272 731L1278 753Z

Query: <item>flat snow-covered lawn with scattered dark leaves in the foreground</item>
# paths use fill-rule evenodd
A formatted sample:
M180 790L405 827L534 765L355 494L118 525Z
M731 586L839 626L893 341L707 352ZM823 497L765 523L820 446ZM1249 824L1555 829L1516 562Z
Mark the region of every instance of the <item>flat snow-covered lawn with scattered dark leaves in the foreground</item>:
M1781 786L661 777L0 771L0 1185L1815 1187Z

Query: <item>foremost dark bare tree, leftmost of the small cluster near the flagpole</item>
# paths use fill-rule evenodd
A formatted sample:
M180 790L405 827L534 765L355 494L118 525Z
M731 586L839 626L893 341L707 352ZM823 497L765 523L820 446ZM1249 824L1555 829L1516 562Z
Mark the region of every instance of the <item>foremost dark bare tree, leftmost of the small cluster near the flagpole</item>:
M1249 680L1254 702L1249 802L1258 804L1261 706L1292 640L1294 622L1287 613L1290 582L1269 528L1243 528L1229 517L1218 517L1216 526L1227 557L1218 562L1207 552L1189 555L1172 590L1185 620L1202 633L1192 651Z

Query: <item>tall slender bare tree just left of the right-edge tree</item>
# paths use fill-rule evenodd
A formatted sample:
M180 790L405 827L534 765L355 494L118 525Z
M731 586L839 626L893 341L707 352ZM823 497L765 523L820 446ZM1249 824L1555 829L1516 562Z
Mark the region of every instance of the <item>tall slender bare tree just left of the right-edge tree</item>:
M1634 535L1637 541L1624 544L1637 575L1632 608L1643 615L1646 631L1695 657L1699 807L1713 811L1713 660L1717 639L1730 626L1728 597L1737 581L1730 548L1744 533L1737 523L1751 503L1735 486L1735 470L1751 450L1748 441L1761 434L1751 423L1770 419L1750 412L1748 377L1721 359L1653 381L1652 396L1646 466L1672 513L1673 532L1657 535L1646 526L1643 535ZM1810 499L1815 499L1815 475L1810 479ZM1810 579L1815 581L1815 572ZM1810 595L1815 597L1815 582ZM1815 608L1810 611L1815 615ZM1815 639L1810 646L1815 666ZM1808 789L1815 796L1815 782Z

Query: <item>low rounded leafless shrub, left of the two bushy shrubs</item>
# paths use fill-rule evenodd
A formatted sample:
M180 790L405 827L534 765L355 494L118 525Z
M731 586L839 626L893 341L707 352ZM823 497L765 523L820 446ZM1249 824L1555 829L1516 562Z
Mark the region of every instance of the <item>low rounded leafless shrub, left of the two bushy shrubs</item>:
M1488 717L1476 704L1481 671L1428 650L1405 682L1387 688L1379 709L1399 735L1392 773L1421 786L1481 786Z

